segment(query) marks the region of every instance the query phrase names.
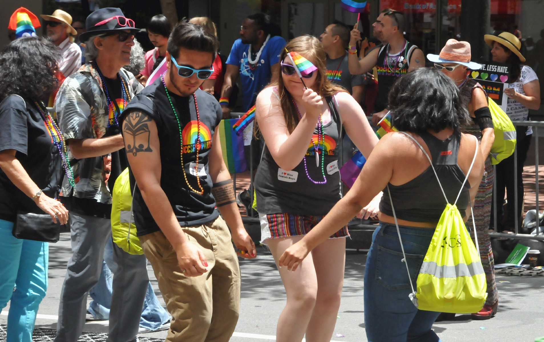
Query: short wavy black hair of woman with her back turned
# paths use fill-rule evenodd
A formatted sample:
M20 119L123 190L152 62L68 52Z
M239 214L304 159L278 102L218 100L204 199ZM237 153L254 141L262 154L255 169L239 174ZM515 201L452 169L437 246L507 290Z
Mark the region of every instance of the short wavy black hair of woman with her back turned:
M469 120L457 85L442 72L422 67L400 77L389 91L391 124L400 131L435 132L460 126Z

